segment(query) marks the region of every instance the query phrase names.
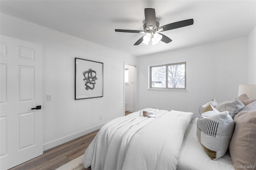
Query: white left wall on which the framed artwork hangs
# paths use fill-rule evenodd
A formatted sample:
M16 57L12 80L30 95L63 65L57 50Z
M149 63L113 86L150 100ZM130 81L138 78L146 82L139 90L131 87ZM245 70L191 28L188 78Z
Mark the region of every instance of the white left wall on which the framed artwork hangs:
M1 34L43 46L44 150L124 115L124 62L135 57L2 13ZM74 100L75 57L104 63L104 97Z

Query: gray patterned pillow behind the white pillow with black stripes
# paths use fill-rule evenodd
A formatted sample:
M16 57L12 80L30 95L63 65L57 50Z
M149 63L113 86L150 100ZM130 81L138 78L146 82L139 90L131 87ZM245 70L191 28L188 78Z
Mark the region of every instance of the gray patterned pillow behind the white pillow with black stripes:
M231 99L225 102L217 104L215 107L218 111L228 111L229 115L234 119L235 115L244 108L244 104L240 102L238 99Z

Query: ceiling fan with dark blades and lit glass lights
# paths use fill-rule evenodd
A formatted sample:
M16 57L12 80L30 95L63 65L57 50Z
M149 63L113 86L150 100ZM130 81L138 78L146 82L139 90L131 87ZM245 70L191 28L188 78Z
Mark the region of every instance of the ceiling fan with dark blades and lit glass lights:
M150 40L152 40L152 45L154 45L159 43L159 41L163 41L164 43L170 43L172 41L166 35L159 32L168 31L170 29L176 29L180 27L186 27L194 23L193 19L189 19L189 20L169 23L167 25L159 27L159 22L156 21L155 9L145 8L144 12L145 12L145 21L146 21L146 23L143 25L144 31L129 30L129 29L115 29L115 31L124 32L124 33L146 33L146 35L141 37L134 45L139 45L140 43L144 43L148 45L148 42Z

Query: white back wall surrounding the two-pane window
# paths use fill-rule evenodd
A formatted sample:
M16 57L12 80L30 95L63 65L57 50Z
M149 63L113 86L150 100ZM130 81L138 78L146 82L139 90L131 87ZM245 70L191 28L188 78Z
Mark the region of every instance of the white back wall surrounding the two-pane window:
M168 44L168 45L171 45ZM139 108L191 111L216 98L237 97L239 84L248 82L247 37L138 58ZM186 61L187 91L148 90L148 66Z

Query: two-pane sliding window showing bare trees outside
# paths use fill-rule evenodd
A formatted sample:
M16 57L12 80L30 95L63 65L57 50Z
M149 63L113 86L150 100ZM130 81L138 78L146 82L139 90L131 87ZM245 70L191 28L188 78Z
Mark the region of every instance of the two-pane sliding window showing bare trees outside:
M186 62L149 66L151 89L186 90Z

